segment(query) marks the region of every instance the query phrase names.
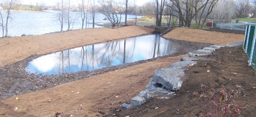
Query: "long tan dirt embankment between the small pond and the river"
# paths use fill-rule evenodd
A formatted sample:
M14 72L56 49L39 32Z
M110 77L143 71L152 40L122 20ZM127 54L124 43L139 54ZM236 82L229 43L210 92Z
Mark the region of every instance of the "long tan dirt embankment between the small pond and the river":
M153 29L141 26L129 26L2 39L0 40L0 65L15 63L31 55L44 55L70 48L139 36L153 31Z

